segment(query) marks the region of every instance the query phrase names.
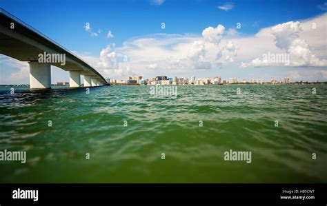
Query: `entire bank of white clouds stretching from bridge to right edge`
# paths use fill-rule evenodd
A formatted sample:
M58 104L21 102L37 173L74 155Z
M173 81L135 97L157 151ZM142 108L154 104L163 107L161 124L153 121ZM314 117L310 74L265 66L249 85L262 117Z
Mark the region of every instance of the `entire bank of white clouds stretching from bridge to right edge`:
M322 68L326 68L327 59L326 18L327 14L323 14L304 21L280 23L251 36L235 34L236 31L231 28L225 31L224 25L220 24L215 28L204 28L199 31L201 35L149 34L128 39L119 47L106 45L99 56L77 55L103 76L114 79L125 79L134 74L146 77L159 74L201 76L206 71L216 72L218 68L237 68L232 65L239 68L266 66L272 70L288 67L295 70L293 79L307 76L313 80L326 79L326 69ZM90 24L84 28L92 32ZM290 54L292 61L290 65L268 63L262 58L267 52ZM127 61L123 60L124 56L127 56ZM315 72L311 74L313 70ZM28 66L21 69L21 73L12 75L10 78L28 76Z

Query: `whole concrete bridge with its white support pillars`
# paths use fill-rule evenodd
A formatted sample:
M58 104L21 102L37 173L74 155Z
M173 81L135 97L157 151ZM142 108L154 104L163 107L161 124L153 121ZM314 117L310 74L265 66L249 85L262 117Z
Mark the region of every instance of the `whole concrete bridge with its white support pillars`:
M106 79L88 63L2 8L0 8L0 54L19 61L28 61L31 89L51 87L50 65L69 72L70 87L80 87L81 75L84 76L84 87L108 84ZM42 60L40 56L44 57L44 61L40 61Z

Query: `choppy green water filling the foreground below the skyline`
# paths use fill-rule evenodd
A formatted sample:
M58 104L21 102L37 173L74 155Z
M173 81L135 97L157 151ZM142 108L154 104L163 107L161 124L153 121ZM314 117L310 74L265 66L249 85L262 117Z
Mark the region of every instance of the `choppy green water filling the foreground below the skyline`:
M14 88L0 87L0 150L27 162L0 161L0 183L327 183L327 85Z

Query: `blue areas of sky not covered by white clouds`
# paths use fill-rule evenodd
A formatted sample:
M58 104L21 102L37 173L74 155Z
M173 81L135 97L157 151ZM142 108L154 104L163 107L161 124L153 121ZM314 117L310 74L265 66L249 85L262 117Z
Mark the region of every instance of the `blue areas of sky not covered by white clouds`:
M77 52L81 57L87 56L99 58L101 50L106 45L112 45L109 52L115 52L117 61L119 61L119 52L123 48L123 43L133 39L143 37L152 37L155 34L179 34L183 37L201 37L203 30L208 27L216 28L217 25L224 25L225 33L230 29L237 31L237 37L253 37L260 30L270 28L280 23L288 21L305 21L326 14L326 1L17 1L2 0L1 8L19 17L29 25L43 32L54 41L57 41L65 48ZM225 9L221 9L221 8ZM161 23L166 24L166 28L161 29ZM237 29L237 23L241 23L241 29ZM90 32L84 28L86 23L90 23L92 32L97 33L93 37ZM99 33L101 30L101 33ZM111 31L112 38L107 38L108 31ZM166 36L164 36L166 37ZM168 37L170 38L170 37ZM236 37L235 37L236 38ZM228 39L228 38L227 38ZM235 41L233 41L235 42ZM175 43L174 45L177 45ZM164 45L168 47L171 45ZM239 45L240 47L241 45ZM324 45L321 45L324 46ZM210 47L208 44L206 48ZM210 53L210 52L209 52ZM321 57L322 56L322 57ZM319 58L324 59L324 54ZM235 58L236 59L236 58ZM249 59L250 61L250 59ZM117 63L118 64L118 63ZM149 65L154 65L150 63ZM239 73L245 78L250 78L250 74L259 78L255 68L248 69L247 72L239 72L239 67L229 63L220 67L225 74L226 79L231 76L241 78ZM119 67L124 65L115 65L118 71ZM130 66L132 65L125 65ZM225 68L229 68L224 70ZM316 68L316 67L315 67ZM316 70L314 68L314 70ZM111 70L112 68L108 68ZM212 67L212 70L215 68ZM263 76L276 76L286 70L298 70L299 68L286 68L281 71L280 68L260 71ZM102 68L100 70L106 70ZM114 70L114 69L113 69ZM133 69L130 69L133 70ZM152 73L143 70L133 70L132 72L123 70L118 72L120 78L132 73L141 73L146 77L151 77ZM303 70L308 70L306 65ZM326 70L326 67L319 67L319 70ZM123 72L123 73L121 73ZM166 75L194 74L201 76L215 75L217 71L206 70L204 72L192 70L189 72L180 72L170 74L169 71L161 67L161 73ZM60 73L60 72L59 72ZM62 72L60 74L63 74ZM106 72L105 72L106 73ZM116 72L117 73L117 72ZM107 72L106 77L117 76L115 72ZM126 73L126 75L124 75ZM167 74L168 73L168 74ZM8 72L6 72L8 74ZM115 74L115 75L114 75ZM147 75L148 74L148 75ZM155 72L153 72L155 74ZM235 74L235 75L233 75ZM58 76L54 75L54 76ZM188 76L190 76L188 75ZM281 76L284 74L281 74ZM286 75L286 74L285 74ZM215 75L216 76L216 75ZM228 77L227 77L228 76ZM321 75L322 76L322 75ZM117 78L118 78L117 77ZM56 77L57 78L57 77ZM66 78L66 77L65 77ZM223 78L224 79L224 78ZM53 79L61 80L58 79ZM267 79L268 80L268 79ZM320 78L324 80L324 78Z

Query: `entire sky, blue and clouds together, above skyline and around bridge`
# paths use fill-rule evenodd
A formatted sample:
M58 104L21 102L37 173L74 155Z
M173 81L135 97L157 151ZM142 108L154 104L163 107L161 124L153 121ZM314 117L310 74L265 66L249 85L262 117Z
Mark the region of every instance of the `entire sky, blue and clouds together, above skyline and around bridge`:
M105 78L327 81L327 1L1 0L0 7ZM28 83L28 63L0 54L0 75L0 84ZM68 80L52 67L52 83Z

